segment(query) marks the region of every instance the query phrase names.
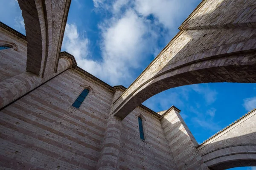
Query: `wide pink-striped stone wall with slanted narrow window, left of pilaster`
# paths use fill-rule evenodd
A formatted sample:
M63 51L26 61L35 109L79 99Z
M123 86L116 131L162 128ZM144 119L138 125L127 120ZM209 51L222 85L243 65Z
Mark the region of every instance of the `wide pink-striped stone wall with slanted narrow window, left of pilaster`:
M73 108L83 86L93 90ZM112 97L73 69L41 85L1 111L0 166L94 170Z

